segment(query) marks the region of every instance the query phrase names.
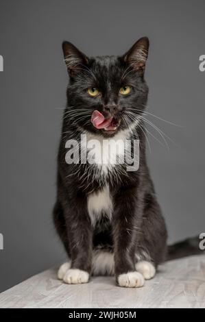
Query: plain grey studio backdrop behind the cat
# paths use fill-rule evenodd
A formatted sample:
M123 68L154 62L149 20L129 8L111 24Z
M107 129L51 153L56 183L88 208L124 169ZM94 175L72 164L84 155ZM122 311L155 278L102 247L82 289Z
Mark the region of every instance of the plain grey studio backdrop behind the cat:
M175 143L150 137L152 177L169 242L204 227L205 54L201 1L0 1L0 291L61 262L51 221L67 72L61 43L88 55L121 54L141 36L151 48L149 118ZM162 141L157 132L152 134ZM163 141L162 141L163 142Z

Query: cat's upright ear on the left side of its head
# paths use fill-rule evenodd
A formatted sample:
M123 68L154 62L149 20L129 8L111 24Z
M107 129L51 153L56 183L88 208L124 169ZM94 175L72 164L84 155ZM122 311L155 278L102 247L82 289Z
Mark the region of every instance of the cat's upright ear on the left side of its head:
M64 53L64 61L67 64L67 69L71 77L83 69L88 64L88 58L84 53L78 50L71 42L64 41L62 43L62 50Z

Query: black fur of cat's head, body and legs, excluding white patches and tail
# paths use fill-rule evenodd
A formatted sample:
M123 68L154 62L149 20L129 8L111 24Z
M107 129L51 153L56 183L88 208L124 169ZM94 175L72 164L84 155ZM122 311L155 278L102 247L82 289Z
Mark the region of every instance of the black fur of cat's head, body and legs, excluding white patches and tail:
M63 44L70 82L58 154L58 193L53 215L58 234L72 260L72 268L88 273L91 273L93 249L98 247L114 252L116 277L121 273L135 271L136 253L141 254L142 259L150 258L155 267L167 255L165 221L147 168L143 121L136 125L132 133L132 138L140 140L139 169L120 173L118 182L112 173L107 179L91 180L90 176L86 177L91 166L68 165L64 160L66 141L70 138L80 140L84 129L104 138L115 135L115 132L93 127L91 114L94 110L120 120L117 132L128 127L122 116L129 107L134 109L132 117L126 114L129 124L143 114L148 95L144 79L148 48L147 38L141 38L123 56L87 58L71 43ZM131 86L131 92L122 97L119 88L127 85ZM88 96L87 88L92 86L100 90L100 96ZM90 112L84 114L85 108ZM76 111L75 114L72 114L72 110ZM87 196L101 190L106 183L110 186L114 201L112 221L102 216L101 221L92 227Z

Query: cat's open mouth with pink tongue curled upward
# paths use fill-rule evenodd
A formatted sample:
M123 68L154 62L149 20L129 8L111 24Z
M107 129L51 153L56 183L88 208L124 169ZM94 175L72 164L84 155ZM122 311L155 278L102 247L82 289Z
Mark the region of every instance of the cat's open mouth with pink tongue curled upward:
M104 129L105 131L116 131L119 127L119 120L113 116L108 119L103 114L95 110L91 116L91 122L96 129Z

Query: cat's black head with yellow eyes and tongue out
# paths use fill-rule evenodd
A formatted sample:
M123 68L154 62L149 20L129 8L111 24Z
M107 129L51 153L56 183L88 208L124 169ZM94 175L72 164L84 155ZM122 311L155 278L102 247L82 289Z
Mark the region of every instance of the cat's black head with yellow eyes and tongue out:
M88 58L70 42L63 42L62 49L70 76L66 119L104 136L136 126L147 103L148 38L121 56Z

